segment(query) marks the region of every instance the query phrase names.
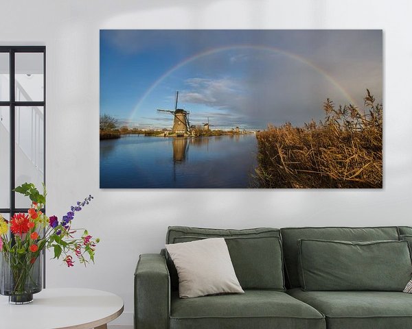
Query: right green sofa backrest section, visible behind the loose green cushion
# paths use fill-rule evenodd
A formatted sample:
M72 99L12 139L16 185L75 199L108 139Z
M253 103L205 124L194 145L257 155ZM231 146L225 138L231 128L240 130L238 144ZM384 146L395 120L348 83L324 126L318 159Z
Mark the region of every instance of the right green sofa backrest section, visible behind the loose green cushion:
M297 241L321 239L337 241L398 240L398 228L282 228L282 244L289 287L300 287Z

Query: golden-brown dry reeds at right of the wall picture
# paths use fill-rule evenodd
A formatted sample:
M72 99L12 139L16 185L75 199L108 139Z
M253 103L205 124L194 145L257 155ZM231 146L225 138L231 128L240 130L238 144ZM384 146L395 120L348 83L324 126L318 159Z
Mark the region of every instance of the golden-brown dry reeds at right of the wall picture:
M327 99L325 119L259 132L255 178L262 188L382 188L382 105L365 112Z

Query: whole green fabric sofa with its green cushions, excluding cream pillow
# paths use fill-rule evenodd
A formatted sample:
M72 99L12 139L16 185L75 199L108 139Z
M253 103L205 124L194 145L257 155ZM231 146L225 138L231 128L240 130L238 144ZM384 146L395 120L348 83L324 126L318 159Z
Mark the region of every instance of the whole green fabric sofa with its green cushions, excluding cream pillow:
M412 328L412 294L402 292L412 276L412 228L216 230L172 226L166 243L212 237L227 242L249 239L249 249L242 249L239 239L240 243L227 243L244 293L181 299L179 278L168 254L164 250L143 254L135 271L136 329ZM264 241L268 248L268 240L262 238L269 237L282 241L280 254L259 251ZM236 245L233 254L230 245ZM258 254L248 254L248 250ZM239 257L242 253L247 262ZM264 255L282 259L265 264ZM274 270L276 264L282 268ZM271 281L264 280L271 270L281 280L272 280L277 282L273 289L268 288Z

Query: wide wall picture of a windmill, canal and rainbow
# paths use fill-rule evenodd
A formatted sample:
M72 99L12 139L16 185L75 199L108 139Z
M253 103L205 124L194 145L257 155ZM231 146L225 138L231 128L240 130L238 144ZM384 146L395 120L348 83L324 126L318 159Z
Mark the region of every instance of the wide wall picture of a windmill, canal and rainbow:
M100 188L382 188L381 30L100 31Z

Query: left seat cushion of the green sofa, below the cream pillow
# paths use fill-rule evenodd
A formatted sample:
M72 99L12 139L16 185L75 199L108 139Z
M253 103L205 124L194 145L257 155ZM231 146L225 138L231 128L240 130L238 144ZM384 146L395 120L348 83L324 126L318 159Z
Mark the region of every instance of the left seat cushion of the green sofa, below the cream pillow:
M325 329L317 310L279 291L248 290L242 295L179 299L170 303L170 329Z

